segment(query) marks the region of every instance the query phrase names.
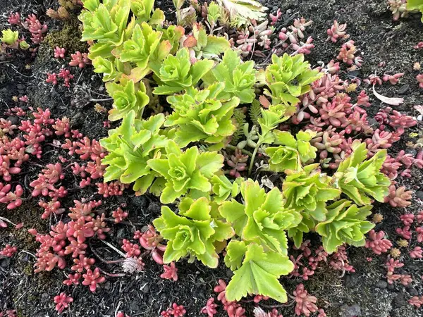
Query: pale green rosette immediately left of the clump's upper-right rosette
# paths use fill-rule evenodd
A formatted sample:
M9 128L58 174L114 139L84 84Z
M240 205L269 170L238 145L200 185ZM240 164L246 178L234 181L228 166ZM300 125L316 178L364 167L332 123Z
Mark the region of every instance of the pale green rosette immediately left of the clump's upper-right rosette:
M223 55L221 63L217 64L207 74L204 81L208 85L214 82L224 84L224 89L219 93L219 98L238 97L240 104L251 104L255 99L256 73L253 61L243 63L235 51L228 49Z

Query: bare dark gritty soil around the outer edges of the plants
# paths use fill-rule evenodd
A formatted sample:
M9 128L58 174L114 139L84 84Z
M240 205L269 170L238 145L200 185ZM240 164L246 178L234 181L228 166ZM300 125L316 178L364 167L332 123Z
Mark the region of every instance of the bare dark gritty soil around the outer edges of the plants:
M22 17L28 13L37 13L40 20L49 25L49 35L39 46L35 57L30 53L19 53L18 56L9 58L6 62L0 62L0 117L4 117L3 114L7 108L17 105L12 101L13 96L20 97L26 94L30 99L30 106L50 108L53 118L67 116L71 118L73 128L78 128L90 138L100 139L107 133L107 128L103 125L106 114L94 111L94 104L97 101L92 99L108 98L104 96L106 92L102 77L93 73L90 67L83 70L73 68L75 78L72 89L45 83L46 74L59 71L63 64L52 58L52 49L55 46L64 46L69 52L85 50L85 44L78 40L80 30L75 16L73 20L63 24L44 15L47 8L56 6L57 4L51 4L51 1L42 0L0 1L0 30L8 27L7 15L12 11L19 11ZM172 18L171 1L157 2L157 6L166 12L169 19ZM283 22L276 25L277 30L292 24L293 18L301 16L314 21L313 26L307 30L307 35L314 38L316 46L312 54L307 56L313 66L317 66L319 61L327 63L338 54L341 44L326 42L326 30L333 20L348 23L348 34L360 49L364 63L362 68L354 73L343 73L343 79L348 76L363 79L372 73L378 75L405 73L398 85L384 85L377 89L379 93L388 97L398 97L398 92L402 90L405 103L396 109L412 116L416 115L412 106L421 104L423 101L423 90L418 88L415 80L417 72L412 70L415 62L423 64L422 51L412 48L423 39L423 25L419 16L410 15L408 18L395 22L392 20L385 0L286 0L269 1L266 6L273 13L277 8L281 8L281 11L286 13ZM386 63L386 66L379 66L382 61ZM30 65L30 68L25 68L26 65ZM372 108L369 113L374 115L381 105L372 94L370 96ZM101 101L100 104L110 108L111 101ZM20 106L25 107L25 104L21 103ZM397 153L400 149L406 149L405 143L412 140L408 134L417 132L419 128L421 129L421 125L407 130L403 139L389 151ZM48 145L43 148L43 151L44 153L49 151L49 155L35 161L42 166L51 162L56 163L59 155L66 154L66 151ZM415 150L407 149L407 151ZM35 178L39 170L37 166L27 163L23 168L23 175L31 176L25 181ZM69 176L66 179L72 180L72 175ZM398 179L401 185L404 183L408 189L414 189L417 193L407 212L415 213L422 209L422 200L417 198L423 197L419 194L423 194L422 178L422 170L413 170L412 178ZM68 185L75 189L63 200L65 208L73 205L73 199L102 198L90 187L79 189L76 180L75 184ZM128 206L129 220L132 223L147 225L160 213L159 202L156 198L134 197L129 190L122 197L107 199L104 208L111 211L123 202ZM405 212L405 209L393 209L388 204L375 204L374 213L384 215L383 223L377 225L376 230L384 230L388 233L388 237L395 241L397 239L395 228L400 223L399 216ZM54 270L38 274L33 271L32 266L35 262L33 254L36 252L37 242L26 233L26 230L37 228L39 232L47 232L49 225L60 220L59 217L42 220L40 214L37 199L27 201L19 209L13 211L6 211L4 205L0 205L0 216L14 223L24 223L22 230L11 227L0 229L0 248L8 243L18 247L20 251L12 259L0 259L0 311L16 309L18 316L28 317L57 316L52 298L60 292L67 292L74 298L74 302L70 310L63 312L64 316L114 316L116 311L121 310L132 317L154 317L159 316L160 311L168 308L173 302L183 304L187 309L187 316L204 316L199 313L200 309L213 295L213 287L217 284L217 280L219 278L228 280L232 274L222 263L218 269L212 270L204 268L199 263L182 261L178 263L179 280L172 282L159 278L162 268L147 259L144 272L128 275L125 278L107 278L107 281L94 294L81 285L67 287L62 284L62 281L65 279L65 274L70 271ZM114 225L108 241L118 246L123 238L132 237L133 232L140 230L142 225ZM313 235L309 238L312 242L316 240L313 240ZM94 241L92 244L104 258L118 257L118 254L111 253L110 248L102 242ZM317 241L314 244L317 244ZM412 275L411 287L403 287L399 284L386 285L386 278L384 278L386 256L374 256L368 249L351 247L348 253L356 273L346 274L341 278L341 272L333 271L329 266L323 266L304 282L305 288L319 299L319 306L323 307L327 315L331 317L423 316L421 310L407 304L410 297L423 294L422 278L420 278L423 275L423 265L421 261L410 259L406 249L402 251L405 256L401 259L405 266L399 272ZM373 261L367 261L368 257L372 257ZM102 268L109 273L121 272L121 268L117 265L104 264ZM283 279L283 284L290 294L299 282L302 281ZM247 316L252 316L253 305L250 302L241 304L247 309ZM268 301L263 306L273 304L276 303ZM283 316L293 316L293 307L283 305L278 306L278 309ZM226 313L219 311L216 317L220 316L226 316Z

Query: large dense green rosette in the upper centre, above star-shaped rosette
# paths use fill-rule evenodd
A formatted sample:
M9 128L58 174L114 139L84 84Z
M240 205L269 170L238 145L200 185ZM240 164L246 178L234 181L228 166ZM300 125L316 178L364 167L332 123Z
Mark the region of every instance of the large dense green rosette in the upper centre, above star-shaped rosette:
M238 106L239 99L219 99L223 89L223 82L216 82L207 89L188 88L185 94L167 98L173 113L166 118L164 125L177 127L175 142L180 147L200 140L215 144L233 134L233 109Z

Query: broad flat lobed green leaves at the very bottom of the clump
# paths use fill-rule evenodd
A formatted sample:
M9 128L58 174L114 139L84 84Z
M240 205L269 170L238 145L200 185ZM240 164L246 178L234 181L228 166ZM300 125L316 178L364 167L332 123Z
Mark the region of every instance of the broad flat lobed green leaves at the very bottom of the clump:
M226 287L229 302L239 301L247 294L260 294L282 303L288 301L286 290L279 282L281 275L288 275L294 269L288 256L256 243L232 240L226 247L225 263L235 270Z

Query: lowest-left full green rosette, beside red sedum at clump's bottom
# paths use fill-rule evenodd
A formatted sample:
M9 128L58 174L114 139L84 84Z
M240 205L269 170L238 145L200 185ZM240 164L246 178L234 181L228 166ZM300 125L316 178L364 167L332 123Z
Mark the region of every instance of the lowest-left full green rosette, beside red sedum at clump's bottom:
M205 266L216 268L219 256L216 242L224 242L234 235L229 223L212 218L212 206L206 197L197 200L184 198L179 204L179 215L167 206L161 207L161 217L153 221L154 227L167 240L164 263L190 256Z

